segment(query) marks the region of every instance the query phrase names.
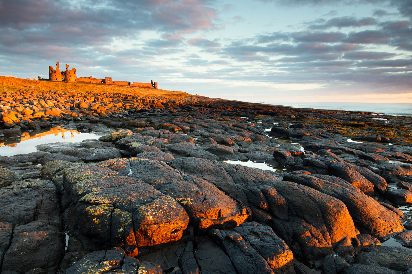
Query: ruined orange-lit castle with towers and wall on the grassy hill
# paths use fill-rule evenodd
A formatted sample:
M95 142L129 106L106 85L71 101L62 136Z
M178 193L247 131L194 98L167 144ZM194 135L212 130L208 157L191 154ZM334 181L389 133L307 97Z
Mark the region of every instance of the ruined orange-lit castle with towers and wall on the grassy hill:
M39 77L39 80L41 78ZM119 86L136 86L140 88L157 88L157 82L152 83L138 83L138 82L128 82L128 81L112 81L112 77L105 78L93 78L93 77L77 77L76 69L69 70L69 65L66 64L66 70L60 71L59 62L56 63L56 70L53 66L49 66L49 81L52 82L81 82L81 83L91 83L91 84L107 84L107 85L119 85Z

